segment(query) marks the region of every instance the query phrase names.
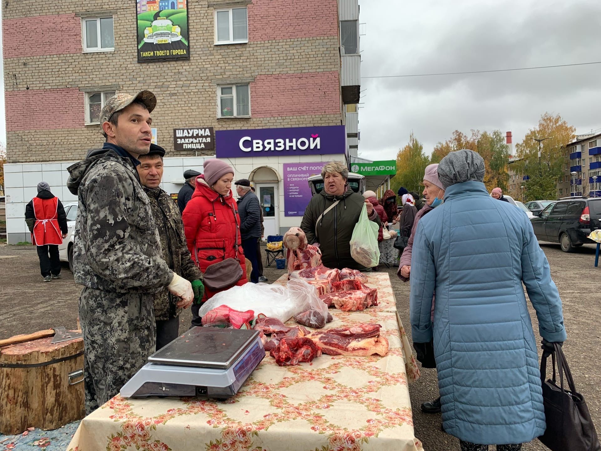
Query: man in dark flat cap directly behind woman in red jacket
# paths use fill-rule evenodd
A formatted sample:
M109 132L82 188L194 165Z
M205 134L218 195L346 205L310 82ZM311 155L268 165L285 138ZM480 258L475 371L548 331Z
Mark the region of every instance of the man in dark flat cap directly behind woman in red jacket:
M250 180L240 179L234 185L238 193L242 249L252 265L251 282L258 283L257 242L261 238L261 205L257 195L252 192Z

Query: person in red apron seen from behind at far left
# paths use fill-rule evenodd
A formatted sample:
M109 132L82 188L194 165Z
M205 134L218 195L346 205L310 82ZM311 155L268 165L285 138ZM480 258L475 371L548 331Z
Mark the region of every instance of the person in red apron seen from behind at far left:
M38 183L37 189L38 195L25 207L25 222L40 257L41 277L49 282L61 277L58 245L63 244L69 228L63 204L50 192L48 183Z

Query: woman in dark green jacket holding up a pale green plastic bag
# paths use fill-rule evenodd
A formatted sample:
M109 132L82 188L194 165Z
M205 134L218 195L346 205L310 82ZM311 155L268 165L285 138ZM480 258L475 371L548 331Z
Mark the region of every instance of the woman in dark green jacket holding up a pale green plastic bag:
M350 255L350 238L359 215L367 205L370 221L382 225L376 210L361 194L347 186L349 170L340 161L323 167L323 190L313 196L305 209L301 229L309 244L320 244L322 263L327 268L367 271Z

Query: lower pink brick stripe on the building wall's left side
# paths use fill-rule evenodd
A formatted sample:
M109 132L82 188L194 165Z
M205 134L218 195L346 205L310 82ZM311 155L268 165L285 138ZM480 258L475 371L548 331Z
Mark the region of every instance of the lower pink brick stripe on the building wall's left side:
M7 132L84 126L84 93L78 88L6 91L4 95Z

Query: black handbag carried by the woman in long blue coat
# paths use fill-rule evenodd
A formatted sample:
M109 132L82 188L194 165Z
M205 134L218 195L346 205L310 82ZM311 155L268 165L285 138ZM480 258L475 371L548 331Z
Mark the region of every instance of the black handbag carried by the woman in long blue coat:
M547 429L538 440L551 451L600 451L599 438L584 396L576 391L572 372L561 346L554 343L554 348L554 352L543 351L540 361L540 380L543 385ZM552 357L553 378L545 381L549 355ZM560 387L555 380L556 358ZM569 390L564 388L564 373Z

